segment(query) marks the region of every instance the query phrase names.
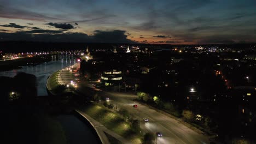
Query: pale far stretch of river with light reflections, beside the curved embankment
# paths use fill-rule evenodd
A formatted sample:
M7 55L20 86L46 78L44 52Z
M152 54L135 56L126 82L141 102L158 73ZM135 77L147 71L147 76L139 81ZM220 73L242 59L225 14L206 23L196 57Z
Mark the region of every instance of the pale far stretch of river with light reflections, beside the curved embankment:
M0 71L0 76L14 77L20 72L36 75L38 96L48 95L46 92L46 81L48 76L57 70L75 64L75 57L73 57L72 55L60 56L58 59L55 56L52 56L51 58L52 61L38 64L35 66L24 66L22 67L23 69Z

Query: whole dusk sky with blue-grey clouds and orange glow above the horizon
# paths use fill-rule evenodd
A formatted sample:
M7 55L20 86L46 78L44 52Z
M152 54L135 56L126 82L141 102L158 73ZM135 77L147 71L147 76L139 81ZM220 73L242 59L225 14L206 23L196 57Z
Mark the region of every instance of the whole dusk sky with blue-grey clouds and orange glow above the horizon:
M0 0L0 41L256 42L255 0Z

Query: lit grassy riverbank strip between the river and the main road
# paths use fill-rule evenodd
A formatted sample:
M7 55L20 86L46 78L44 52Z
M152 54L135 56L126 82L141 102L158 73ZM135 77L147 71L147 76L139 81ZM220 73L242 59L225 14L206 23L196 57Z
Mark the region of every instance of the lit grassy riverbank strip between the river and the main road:
M72 65L69 67L71 68L70 70L69 68L66 68L51 74L46 84L48 92L50 92L50 94L52 94L53 96L55 95L55 97L60 97L59 94L61 94L63 97L66 97L66 94L63 94L63 92L65 92L64 89L66 89L66 91L67 89L69 89L70 91L71 86L63 87L63 83L68 85L67 82L75 79L74 74L70 73L70 71L77 69L77 67L78 65ZM72 76L70 76L70 74ZM65 77L65 79L62 80L61 76ZM64 89L58 91L58 87L62 87ZM85 97L83 94L79 94L73 91L70 92L72 92L73 97ZM95 106L100 106L101 110L103 111L97 111L95 109ZM134 132L131 130L131 125L128 122L125 122L124 119L120 118L119 115L117 115L116 113L106 109L106 107L104 107L103 105L83 103L79 107L83 107L82 109L80 108L79 110L77 110L78 113L84 117L83 121L88 122L88 124L90 124L92 128L94 128L94 131L97 132L96 135L100 137L102 143L130 143L129 141L131 141L132 143L141 143L141 137L138 138L137 136L135 136ZM94 112L92 111L96 113L101 112L102 117L98 119L98 117L94 115ZM124 137L128 138L129 141L127 141Z

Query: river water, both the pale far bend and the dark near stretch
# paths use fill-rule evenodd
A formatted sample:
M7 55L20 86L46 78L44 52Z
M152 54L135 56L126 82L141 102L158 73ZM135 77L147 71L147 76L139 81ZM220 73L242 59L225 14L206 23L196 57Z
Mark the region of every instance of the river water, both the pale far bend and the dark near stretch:
M0 76L14 77L20 72L33 74L37 77L37 93L38 96L48 95L46 91L46 81L50 74L57 70L61 70L70 65L77 63L75 57L72 55L62 55L59 58L51 56L50 62L44 62L38 65L27 65L22 69L14 69L9 71L0 71ZM93 133L89 124L84 124L80 119L74 115L60 115L56 119L61 123L68 143L100 143L97 136Z

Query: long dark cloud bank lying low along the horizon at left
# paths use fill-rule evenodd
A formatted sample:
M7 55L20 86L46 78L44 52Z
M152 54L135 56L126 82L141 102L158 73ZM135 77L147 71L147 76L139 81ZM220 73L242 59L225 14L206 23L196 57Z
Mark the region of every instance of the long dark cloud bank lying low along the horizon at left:
M94 35L85 33L66 32L66 29L32 29L15 33L0 32L1 41L26 40L26 41L53 41L53 42L84 42L84 43L136 43L127 39L126 31L94 31Z

